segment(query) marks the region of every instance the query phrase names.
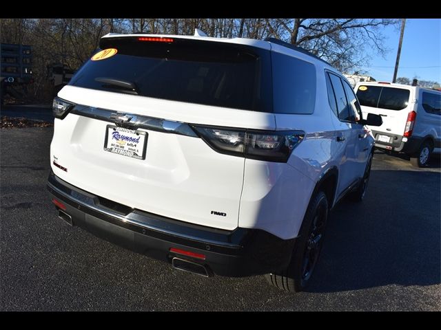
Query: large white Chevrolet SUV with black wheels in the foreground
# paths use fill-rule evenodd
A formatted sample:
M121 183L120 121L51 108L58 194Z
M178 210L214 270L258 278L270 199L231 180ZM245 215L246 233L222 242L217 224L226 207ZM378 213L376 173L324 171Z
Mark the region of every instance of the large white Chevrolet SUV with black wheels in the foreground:
M107 34L54 100L48 189L72 225L180 270L299 291L328 210L365 195L347 80L276 39Z

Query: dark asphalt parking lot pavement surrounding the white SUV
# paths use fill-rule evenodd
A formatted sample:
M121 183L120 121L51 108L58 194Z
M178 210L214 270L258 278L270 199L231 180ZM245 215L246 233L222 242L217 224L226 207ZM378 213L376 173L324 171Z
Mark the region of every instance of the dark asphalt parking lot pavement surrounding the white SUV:
M203 278L72 228L45 181L52 128L0 130L1 311L441 311L441 165L376 152L363 203L329 219L307 292Z

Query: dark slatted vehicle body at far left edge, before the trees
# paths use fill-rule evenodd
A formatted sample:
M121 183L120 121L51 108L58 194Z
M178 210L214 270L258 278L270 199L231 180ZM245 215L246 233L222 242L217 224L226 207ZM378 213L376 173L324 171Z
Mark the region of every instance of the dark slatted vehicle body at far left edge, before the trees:
M14 43L0 44L0 100L23 102L32 79L32 47Z

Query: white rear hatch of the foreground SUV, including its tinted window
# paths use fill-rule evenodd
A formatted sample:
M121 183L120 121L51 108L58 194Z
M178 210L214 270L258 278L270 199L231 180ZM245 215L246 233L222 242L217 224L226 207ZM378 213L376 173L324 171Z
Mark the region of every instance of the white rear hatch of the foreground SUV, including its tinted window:
M147 36L100 47L58 94L74 105L55 120L54 173L103 200L236 228L245 158L215 151L197 127L276 129L269 51Z

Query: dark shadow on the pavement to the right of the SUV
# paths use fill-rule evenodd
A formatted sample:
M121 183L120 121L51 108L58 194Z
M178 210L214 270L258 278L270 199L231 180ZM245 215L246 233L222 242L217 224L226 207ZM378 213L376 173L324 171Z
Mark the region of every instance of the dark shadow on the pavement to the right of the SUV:
M441 173L372 170L365 201L331 212L307 291L441 283L440 186Z

